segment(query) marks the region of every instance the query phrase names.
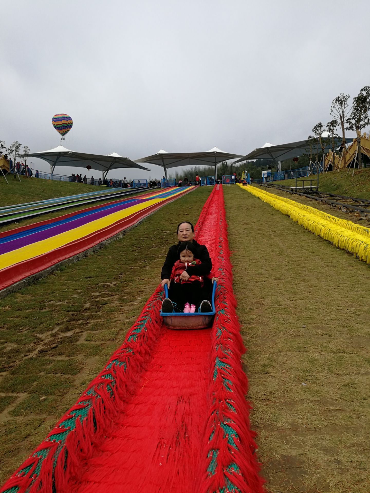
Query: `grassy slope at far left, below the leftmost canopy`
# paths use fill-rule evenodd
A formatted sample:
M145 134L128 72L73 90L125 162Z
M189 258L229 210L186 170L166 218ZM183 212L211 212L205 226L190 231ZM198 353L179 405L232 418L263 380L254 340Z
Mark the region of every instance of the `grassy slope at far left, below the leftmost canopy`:
M41 178L25 178L16 180L12 175L7 176L9 184L4 177L0 177L0 207L13 204L24 204L37 200L54 199L78 193L94 192L102 187L72 183L69 181L43 180Z

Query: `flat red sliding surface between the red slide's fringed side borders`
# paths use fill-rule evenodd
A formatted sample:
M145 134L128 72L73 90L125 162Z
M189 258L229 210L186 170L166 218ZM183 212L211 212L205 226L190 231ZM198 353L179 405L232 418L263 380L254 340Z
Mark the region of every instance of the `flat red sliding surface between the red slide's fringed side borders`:
M218 200L197 241L215 250ZM211 329L162 326L135 394L71 493L195 492L207 420Z

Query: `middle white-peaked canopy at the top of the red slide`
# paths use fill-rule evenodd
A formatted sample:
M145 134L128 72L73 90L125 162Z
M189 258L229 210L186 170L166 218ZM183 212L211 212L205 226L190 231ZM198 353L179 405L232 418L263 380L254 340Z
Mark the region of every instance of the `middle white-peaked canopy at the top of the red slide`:
M178 166L214 166L215 177L217 178L217 165L222 161L228 161L241 157L241 154L224 152L218 147L213 147L209 151L203 152L167 152L163 149L151 156L137 159L138 163L151 163L162 166L167 178L167 170Z

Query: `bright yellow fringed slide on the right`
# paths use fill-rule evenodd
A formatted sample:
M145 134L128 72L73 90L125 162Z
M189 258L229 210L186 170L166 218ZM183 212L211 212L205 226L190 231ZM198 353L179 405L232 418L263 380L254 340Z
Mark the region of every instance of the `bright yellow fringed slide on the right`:
M243 187L241 184L238 185L243 190L263 200L263 202L270 204L274 209L289 215L293 221L315 233L315 235L321 236L324 240L332 242L343 250L350 251L368 264L370 263L369 228L355 224L352 221L339 219L339 217L299 204L294 200L279 197L254 186Z

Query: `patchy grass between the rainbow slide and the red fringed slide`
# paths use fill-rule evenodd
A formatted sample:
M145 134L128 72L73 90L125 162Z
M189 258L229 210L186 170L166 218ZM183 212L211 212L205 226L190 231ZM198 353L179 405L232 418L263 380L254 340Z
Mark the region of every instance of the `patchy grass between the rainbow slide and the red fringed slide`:
M159 284L178 222L195 224L210 192L190 192L93 255L0 299L0 483L122 344Z

